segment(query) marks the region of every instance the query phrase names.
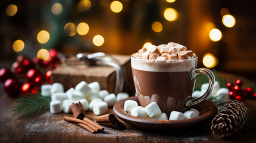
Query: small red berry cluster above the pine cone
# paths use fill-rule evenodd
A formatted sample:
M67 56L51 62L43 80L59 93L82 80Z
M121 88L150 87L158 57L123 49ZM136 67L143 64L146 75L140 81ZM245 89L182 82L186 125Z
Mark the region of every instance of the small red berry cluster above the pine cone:
M229 89L229 97L235 98L236 100L242 101L243 98L255 98L256 93L254 93L253 88L242 89L243 80L236 80L236 85L229 82L227 83L227 89Z

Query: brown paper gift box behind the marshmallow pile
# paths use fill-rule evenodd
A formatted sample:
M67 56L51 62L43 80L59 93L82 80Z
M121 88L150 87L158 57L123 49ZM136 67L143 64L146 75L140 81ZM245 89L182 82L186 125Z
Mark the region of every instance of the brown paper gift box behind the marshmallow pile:
M124 85L124 92L134 95L134 83L132 80L131 60L129 55L111 55L119 61L127 73L127 82ZM75 55L67 58L58 69L53 70L51 74L53 83L63 84L65 91L85 81L87 83L98 82L100 88L106 89L109 93L114 93L116 82L116 71L109 66L88 66L84 61L78 61Z

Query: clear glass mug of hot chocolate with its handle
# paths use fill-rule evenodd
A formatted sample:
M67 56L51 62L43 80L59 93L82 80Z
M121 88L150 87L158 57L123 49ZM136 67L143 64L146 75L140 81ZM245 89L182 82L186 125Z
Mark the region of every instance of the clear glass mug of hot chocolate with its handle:
M215 77L211 70L196 69L198 57L184 60L143 60L131 55L132 77L142 107L157 102L167 116L171 111L184 112L203 101L214 88ZM203 73L209 78L205 94L192 98L196 75Z

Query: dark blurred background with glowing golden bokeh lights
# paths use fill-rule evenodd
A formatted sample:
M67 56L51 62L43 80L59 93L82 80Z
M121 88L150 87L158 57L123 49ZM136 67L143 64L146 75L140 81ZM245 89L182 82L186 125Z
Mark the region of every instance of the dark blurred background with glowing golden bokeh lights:
M53 48L69 54L131 55L143 46L177 42L198 55L198 67L255 81L255 4L238 0L4 0L0 4L0 62L12 63L18 55L49 60L48 51Z

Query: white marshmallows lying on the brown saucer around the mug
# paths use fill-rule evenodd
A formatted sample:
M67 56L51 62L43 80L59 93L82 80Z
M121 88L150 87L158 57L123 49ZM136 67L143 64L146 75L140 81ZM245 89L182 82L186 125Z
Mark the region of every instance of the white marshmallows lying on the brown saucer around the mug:
M135 117L141 117L145 119L154 120L168 120L166 113L162 113L156 102L151 102L145 108L138 106L138 103L134 100L127 100L124 104L124 110ZM169 120L184 120L192 119L199 116L199 111L191 108L190 110L181 113L178 111L172 111Z

